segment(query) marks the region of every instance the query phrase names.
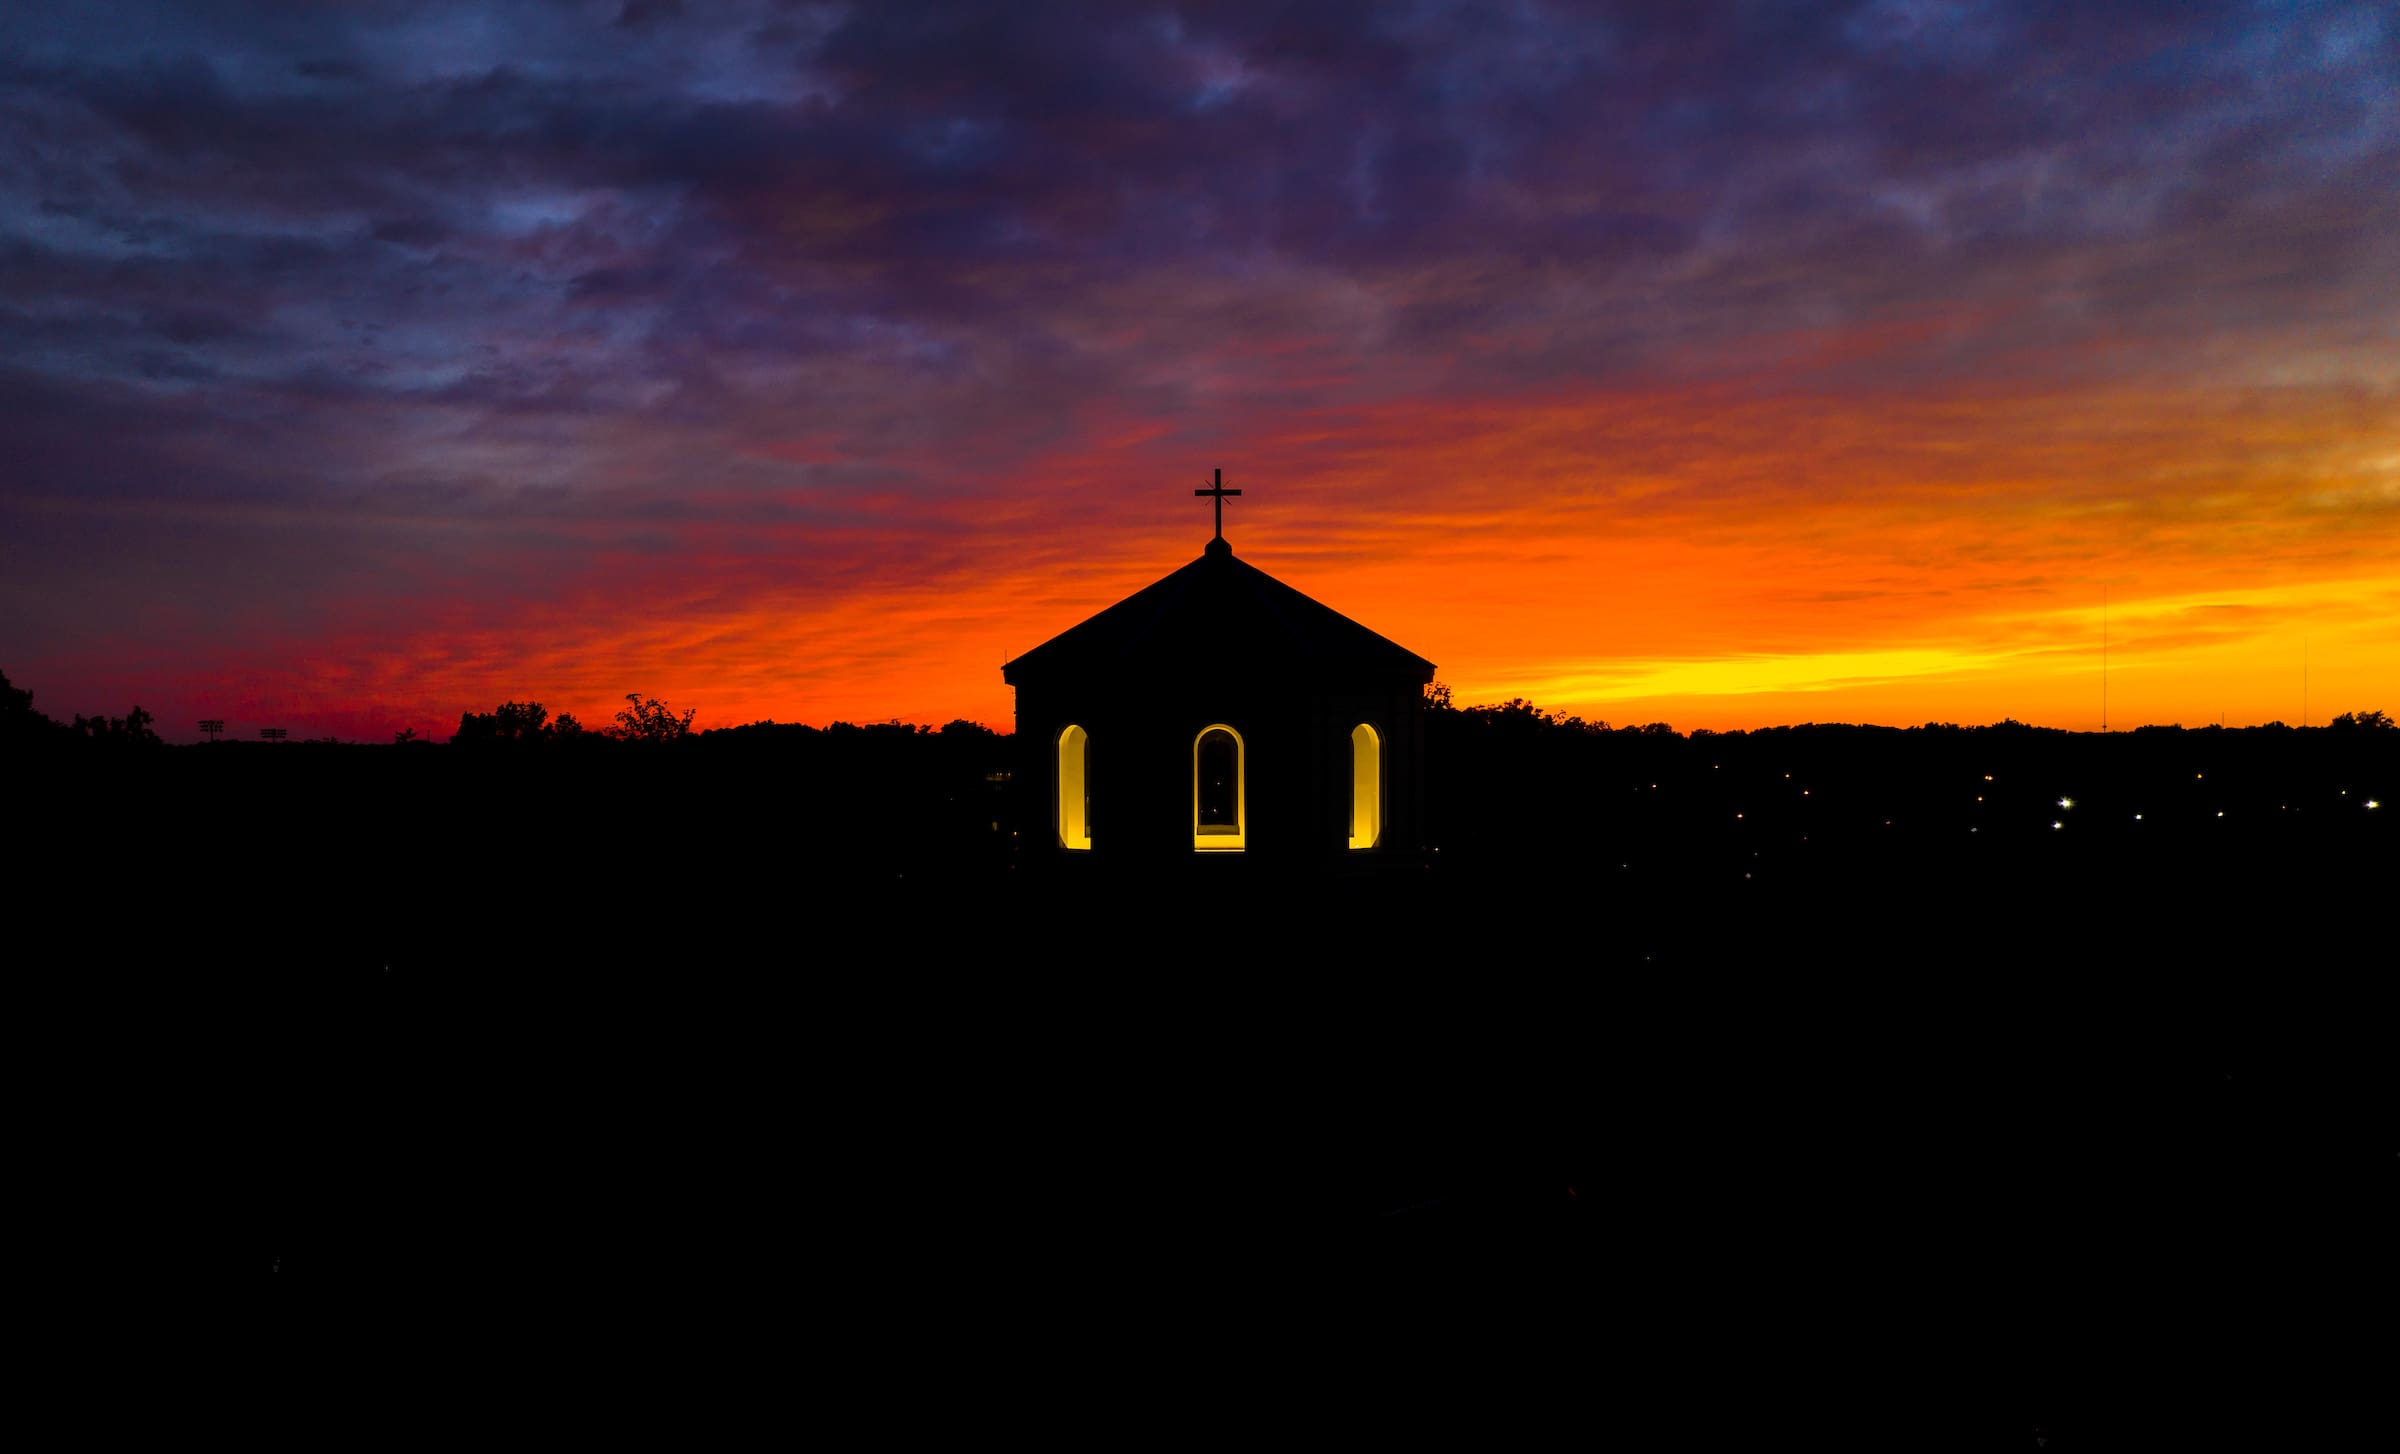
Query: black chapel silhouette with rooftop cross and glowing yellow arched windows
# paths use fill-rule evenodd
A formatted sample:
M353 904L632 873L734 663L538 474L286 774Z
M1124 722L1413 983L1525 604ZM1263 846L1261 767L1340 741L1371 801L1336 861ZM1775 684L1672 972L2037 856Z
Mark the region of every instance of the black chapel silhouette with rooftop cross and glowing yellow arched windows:
M1181 571L1015 657L1037 857L1370 864L1418 847L1433 662L1234 559Z

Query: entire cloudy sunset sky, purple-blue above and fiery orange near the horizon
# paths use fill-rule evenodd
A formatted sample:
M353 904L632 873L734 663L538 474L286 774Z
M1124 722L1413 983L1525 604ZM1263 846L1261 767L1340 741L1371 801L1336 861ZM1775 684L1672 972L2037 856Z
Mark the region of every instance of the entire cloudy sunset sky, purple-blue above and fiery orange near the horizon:
M2400 710L2400 12L0 10L55 717L1006 729L1214 468L1462 705Z

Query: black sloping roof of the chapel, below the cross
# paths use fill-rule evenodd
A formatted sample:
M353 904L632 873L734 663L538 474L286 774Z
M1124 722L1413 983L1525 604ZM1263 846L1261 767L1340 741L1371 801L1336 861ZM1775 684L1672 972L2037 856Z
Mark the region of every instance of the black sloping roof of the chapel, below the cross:
M1135 590L1001 667L1030 679L1123 672L1306 669L1322 677L1430 681L1433 662L1310 600L1210 540L1193 564Z

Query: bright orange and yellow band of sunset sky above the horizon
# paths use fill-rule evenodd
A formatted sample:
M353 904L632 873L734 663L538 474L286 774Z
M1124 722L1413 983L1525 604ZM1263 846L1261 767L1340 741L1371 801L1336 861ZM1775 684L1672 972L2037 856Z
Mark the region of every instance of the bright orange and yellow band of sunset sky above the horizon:
M2114 727L2323 722L2400 703L2388 403L1694 389L1339 410L1243 449L1094 429L1114 444L934 511L691 525L514 619L298 643L307 689L283 672L274 701L194 698L362 717L360 737L446 737L504 698L600 727L624 691L701 727L1006 732L1001 662L1195 557L1210 518L1188 492L1222 463L1246 489L1234 549L1438 662L1462 705L2090 729L2105 590Z

